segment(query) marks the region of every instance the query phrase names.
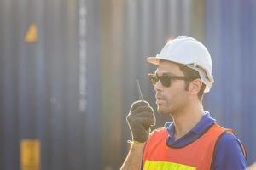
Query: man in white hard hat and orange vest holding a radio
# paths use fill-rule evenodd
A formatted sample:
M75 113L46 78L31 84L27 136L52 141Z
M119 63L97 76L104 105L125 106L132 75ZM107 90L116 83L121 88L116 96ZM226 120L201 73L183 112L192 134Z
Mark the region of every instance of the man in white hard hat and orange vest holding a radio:
M192 37L180 36L147 60L158 65L155 74L148 75L157 111L172 116L173 122L149 135L154 111L146 101L134 102L127 116L131 149L121 169L245 169L246 152L239 139L203 109L203 94L214 82L207 48Z

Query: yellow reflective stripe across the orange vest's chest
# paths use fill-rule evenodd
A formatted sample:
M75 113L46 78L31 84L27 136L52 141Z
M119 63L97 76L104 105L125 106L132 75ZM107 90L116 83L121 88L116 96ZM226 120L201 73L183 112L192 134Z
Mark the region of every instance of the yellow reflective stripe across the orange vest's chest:
M143 170L196 170L196 167L190 167L188 165L168 161L146 160Z

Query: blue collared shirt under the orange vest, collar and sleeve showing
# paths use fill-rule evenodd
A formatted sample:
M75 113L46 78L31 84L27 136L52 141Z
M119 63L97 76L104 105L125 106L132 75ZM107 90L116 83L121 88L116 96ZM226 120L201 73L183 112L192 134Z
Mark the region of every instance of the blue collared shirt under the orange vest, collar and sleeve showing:
M174 124L173 122L166 122L165 127L169 133L167 144L173 147L182 147L197 139L202 133L207 130L216 120L206 114L201 118L194 128L182 138L174 140ZM215 157L213 157L214 170L244 170L247 167L247 161L243 156L239 139L230 133L224 133L216 145Z

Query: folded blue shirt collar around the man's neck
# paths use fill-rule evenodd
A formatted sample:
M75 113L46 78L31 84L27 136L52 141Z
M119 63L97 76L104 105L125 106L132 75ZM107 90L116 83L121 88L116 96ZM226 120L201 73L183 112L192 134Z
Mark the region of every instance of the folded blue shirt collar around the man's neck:
M203 133L207 127L210 127L216 120L213 119L208 111L205 111L205 115L201 118L201 121L198 122L195 127L193 127L189 133L201 134ZM169 136L173 137L174 135L174 123L173 122L166 122L165 128L169 133Z

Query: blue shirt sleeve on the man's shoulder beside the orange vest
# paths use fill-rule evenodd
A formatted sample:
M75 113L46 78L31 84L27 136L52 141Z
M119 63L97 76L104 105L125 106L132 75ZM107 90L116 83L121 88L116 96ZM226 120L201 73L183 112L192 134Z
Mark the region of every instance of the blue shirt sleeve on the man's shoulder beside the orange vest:
M214 170L244 170L247 167L246 157L236 136L224 133L219 137L212 165Z

